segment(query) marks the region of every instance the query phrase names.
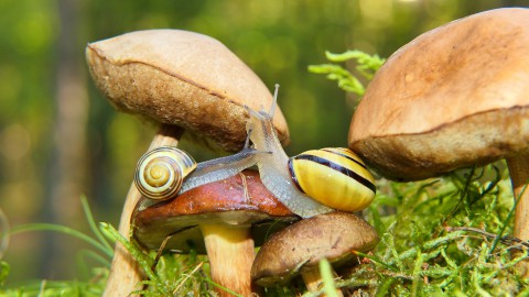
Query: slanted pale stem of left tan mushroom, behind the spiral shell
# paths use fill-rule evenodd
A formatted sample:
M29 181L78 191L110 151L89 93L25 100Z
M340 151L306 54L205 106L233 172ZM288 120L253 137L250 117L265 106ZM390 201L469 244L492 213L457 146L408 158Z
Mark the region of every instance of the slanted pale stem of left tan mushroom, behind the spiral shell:
M182 128L175 125L162 124L151 142L149 151L163 145L176 146L180 138L183 134L183 131L184 130ZM134 207L140 198L141 194L132 183L129 193L127 194L119 221L119 233L127 239L130 238L132 233L130 220ZM134 287L142 280L142 278L143 273L141 272L136 260L121 244L116 243L114 249L112 264L110 266L110 275L108 276L107 286L105 287L105 293L102 296L129 296L129 294L134 290Z

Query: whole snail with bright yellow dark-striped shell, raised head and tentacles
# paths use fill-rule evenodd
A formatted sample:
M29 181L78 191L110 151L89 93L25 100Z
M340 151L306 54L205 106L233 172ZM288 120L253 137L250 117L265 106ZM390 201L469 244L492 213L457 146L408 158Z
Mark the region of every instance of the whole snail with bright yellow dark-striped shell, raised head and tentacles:
M303 218L333 209L357 211L366 208L375 197L374 178L350 150L327 148L325 154L325 150L309 151L311 153L301 155L315 155L310 162L302 161L301 155L289 160L271 122L278 86L273 97L268 113L247 109L250 113L247 131L251 131L249 138L253 147L272 152L257 157L262 184L287 208ZM334 153L328 154L328 151Z

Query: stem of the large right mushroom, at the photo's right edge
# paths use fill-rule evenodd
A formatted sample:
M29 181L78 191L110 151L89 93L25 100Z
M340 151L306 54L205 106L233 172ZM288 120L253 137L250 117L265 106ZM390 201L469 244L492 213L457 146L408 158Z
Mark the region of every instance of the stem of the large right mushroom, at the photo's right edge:
M509 167L512 191L517 199L515 210L514 235L522 241L529 240L529 152L506 158ZM518 272L525 278L529 277L529 261L521 262Z

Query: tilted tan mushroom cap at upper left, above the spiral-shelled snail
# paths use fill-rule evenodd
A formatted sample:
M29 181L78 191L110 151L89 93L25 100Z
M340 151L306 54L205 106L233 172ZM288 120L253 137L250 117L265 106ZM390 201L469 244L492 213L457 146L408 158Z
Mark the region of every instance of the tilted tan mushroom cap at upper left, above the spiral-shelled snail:
M183 127L238 151L246 140L245 106L268 109L272 95L261 79L215 38L181 30L147 30L88 44L97 87L120 111ZM289 143L284 117L274 128Z

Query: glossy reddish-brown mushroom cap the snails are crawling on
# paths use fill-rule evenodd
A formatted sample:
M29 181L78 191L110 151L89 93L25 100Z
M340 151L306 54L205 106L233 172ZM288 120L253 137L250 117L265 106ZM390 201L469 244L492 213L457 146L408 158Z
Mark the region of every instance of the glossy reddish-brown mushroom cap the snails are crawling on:
M174 234L165 249L205 253L201 223L251 226L252 239L260 245L267 235L299 219L268 191L256 170L241 174L144 209L140 201L132 219L134 238L148 249L159 249L168 235Z

